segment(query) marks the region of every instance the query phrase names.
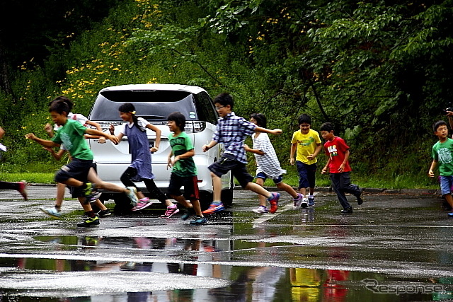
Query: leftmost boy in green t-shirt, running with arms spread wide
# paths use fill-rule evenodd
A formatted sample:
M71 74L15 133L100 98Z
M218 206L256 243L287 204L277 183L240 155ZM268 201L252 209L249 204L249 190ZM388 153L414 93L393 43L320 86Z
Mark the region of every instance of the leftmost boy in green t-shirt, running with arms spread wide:
M117 138L95 129L86 128L76 120L69 120L67 117L69 106L63 100L52 102L49 112L52 121L62 126L55 136L49 141L35 137L35 134L33 133L28 133L25 134L25 138L36 141L38 144L48 148L64 144L71 154L72 160L55 174L55 182L61 182L65 185L75 187L76 190L79 190L79 196L84 197L84 202L82 202L81 205L88 218L81 223L77 223L77 226L89 227L99 224L99 218L94 214L93 209L91 209L91 204L89 203L91 194L96 187L114 192L124 192L127 194L127 197L130 198L132 204L137 204L137 196L134 187L120 187L110 182L103 182L96 175L89 174L93 164L93 153L86 144L84 134L106 137L110 139L110 141L113 141L114 144L117 144Z

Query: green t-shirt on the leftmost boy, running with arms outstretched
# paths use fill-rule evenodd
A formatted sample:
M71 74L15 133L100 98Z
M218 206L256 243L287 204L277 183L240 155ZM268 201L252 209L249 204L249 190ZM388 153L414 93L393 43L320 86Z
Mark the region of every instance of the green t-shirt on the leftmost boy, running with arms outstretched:
M59 128L57 134L52 137L52 141L56 144L63 144L72 158L93 160L93 153L84 138L85 130L86 127L79 121L68 119L66 124Z

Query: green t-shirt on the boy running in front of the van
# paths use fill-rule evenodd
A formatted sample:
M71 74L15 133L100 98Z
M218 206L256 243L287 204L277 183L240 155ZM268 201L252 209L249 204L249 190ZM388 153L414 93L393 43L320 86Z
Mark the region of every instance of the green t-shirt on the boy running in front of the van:
M193 149L192 140L185 132L181 132L178 137L173 137L173 134L168 135L173 156L184 154ZM180 177L191 177L197 175L197 166L193 161L193 157L180 159L173 165L172 173Z

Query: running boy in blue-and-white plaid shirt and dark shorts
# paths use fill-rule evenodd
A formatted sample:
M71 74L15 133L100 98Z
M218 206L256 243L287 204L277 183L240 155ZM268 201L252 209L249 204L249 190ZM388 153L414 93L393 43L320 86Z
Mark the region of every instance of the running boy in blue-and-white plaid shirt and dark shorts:
M275 213L278 207L279 193L271 193L265 190L260 185L252 182L253 176L246 169L246 150L244 149L244 141L247 136L255 132L265 132L270 134L281 134L281 129L266 129L257 127L256 124L248 122L243 117L238 117L234 114L234 101L228 93L221 93L214 98L214 105L219 112L219 122L215 129L212 141L202 147L202 151L206 152L215 145L224 144L225 151L219 158L219 161L212 163L208 168L211 171L214 198L210 208L203 211L203 214L212 214L217 211L222 211L224 205L220 201L222 190L222 175L231 173L236 180L239 181L241 187L247 190L256 192L257 194L266 197L270 203L270 213Z

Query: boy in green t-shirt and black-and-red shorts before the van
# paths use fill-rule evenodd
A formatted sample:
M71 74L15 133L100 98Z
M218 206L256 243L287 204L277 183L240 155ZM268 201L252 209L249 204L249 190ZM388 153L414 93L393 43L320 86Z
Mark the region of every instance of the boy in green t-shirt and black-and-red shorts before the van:
M193 161L195 151L193 143L188 134L184 132L185 116L180 112L172 112L167 117L168 129L171 134L168 135L171 152L168 154L167 168L171 169L170 185L168 185L168 195L177 202L188 208L183 214L183 220L195 214L190 224L203 224L206 219L200 208L200 194L198 192L197 166ZM180 188L184 186L184 194ZM190 200L190 203L187 202Z

